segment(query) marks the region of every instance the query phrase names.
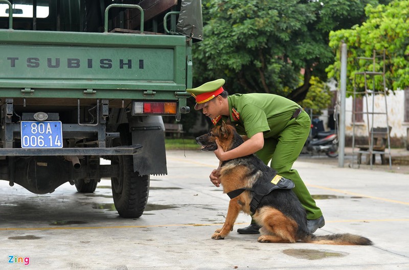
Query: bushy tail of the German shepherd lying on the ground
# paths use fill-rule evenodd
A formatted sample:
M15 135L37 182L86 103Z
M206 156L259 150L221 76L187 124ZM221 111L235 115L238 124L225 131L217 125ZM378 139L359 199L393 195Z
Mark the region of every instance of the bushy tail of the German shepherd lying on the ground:
M308 235L303 242L314 244L334 244L334 245L372 245L372 241L366 237L355 234L329 234L329 235Z

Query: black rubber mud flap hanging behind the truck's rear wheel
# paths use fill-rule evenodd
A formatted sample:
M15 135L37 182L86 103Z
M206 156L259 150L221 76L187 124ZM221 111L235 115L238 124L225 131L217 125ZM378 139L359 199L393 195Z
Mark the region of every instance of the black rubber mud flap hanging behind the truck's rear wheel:
M167 174L165 134L162 129L132 132L132 142L141 144L142 150L133 156L133 170L140 175Z

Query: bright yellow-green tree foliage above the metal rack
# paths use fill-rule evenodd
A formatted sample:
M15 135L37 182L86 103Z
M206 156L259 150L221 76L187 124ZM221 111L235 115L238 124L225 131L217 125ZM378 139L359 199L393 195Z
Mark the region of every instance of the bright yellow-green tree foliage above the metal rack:
M365 78L355 73L363 71L382 72L385 65L386 86L392 90L409 85L409 1L393 1L388 5L368 5L365 9L368 19L362 25L351 29L330 32L330 47L337 52L335 63L327 69L328 77L339 78L339 46L344 41L348 46L348 79L347 90L353 91L354 78L357 91L362 91ZM371 58L382 55L385 50L385 61L376 58L375 66ZM367 76L367 85L375 90L383 91L381 76Z

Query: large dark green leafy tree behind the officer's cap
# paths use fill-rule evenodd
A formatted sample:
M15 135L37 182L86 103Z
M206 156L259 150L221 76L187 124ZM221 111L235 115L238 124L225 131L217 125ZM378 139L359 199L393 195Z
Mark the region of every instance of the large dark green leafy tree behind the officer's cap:
M203 0L204 40L194 48L194 85L226 79L231 93L302 101L312 76L326 80L331 30L365 18L375 0ZM300 77L300 71L304 75Z

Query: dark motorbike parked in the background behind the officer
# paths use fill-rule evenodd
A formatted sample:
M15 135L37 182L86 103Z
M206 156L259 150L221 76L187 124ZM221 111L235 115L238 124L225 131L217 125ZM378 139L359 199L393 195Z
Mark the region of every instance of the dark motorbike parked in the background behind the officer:
M335 130L324 131L322 120L312 121L311 132L301 153L325 153L330 158L338 156L338 136Z

